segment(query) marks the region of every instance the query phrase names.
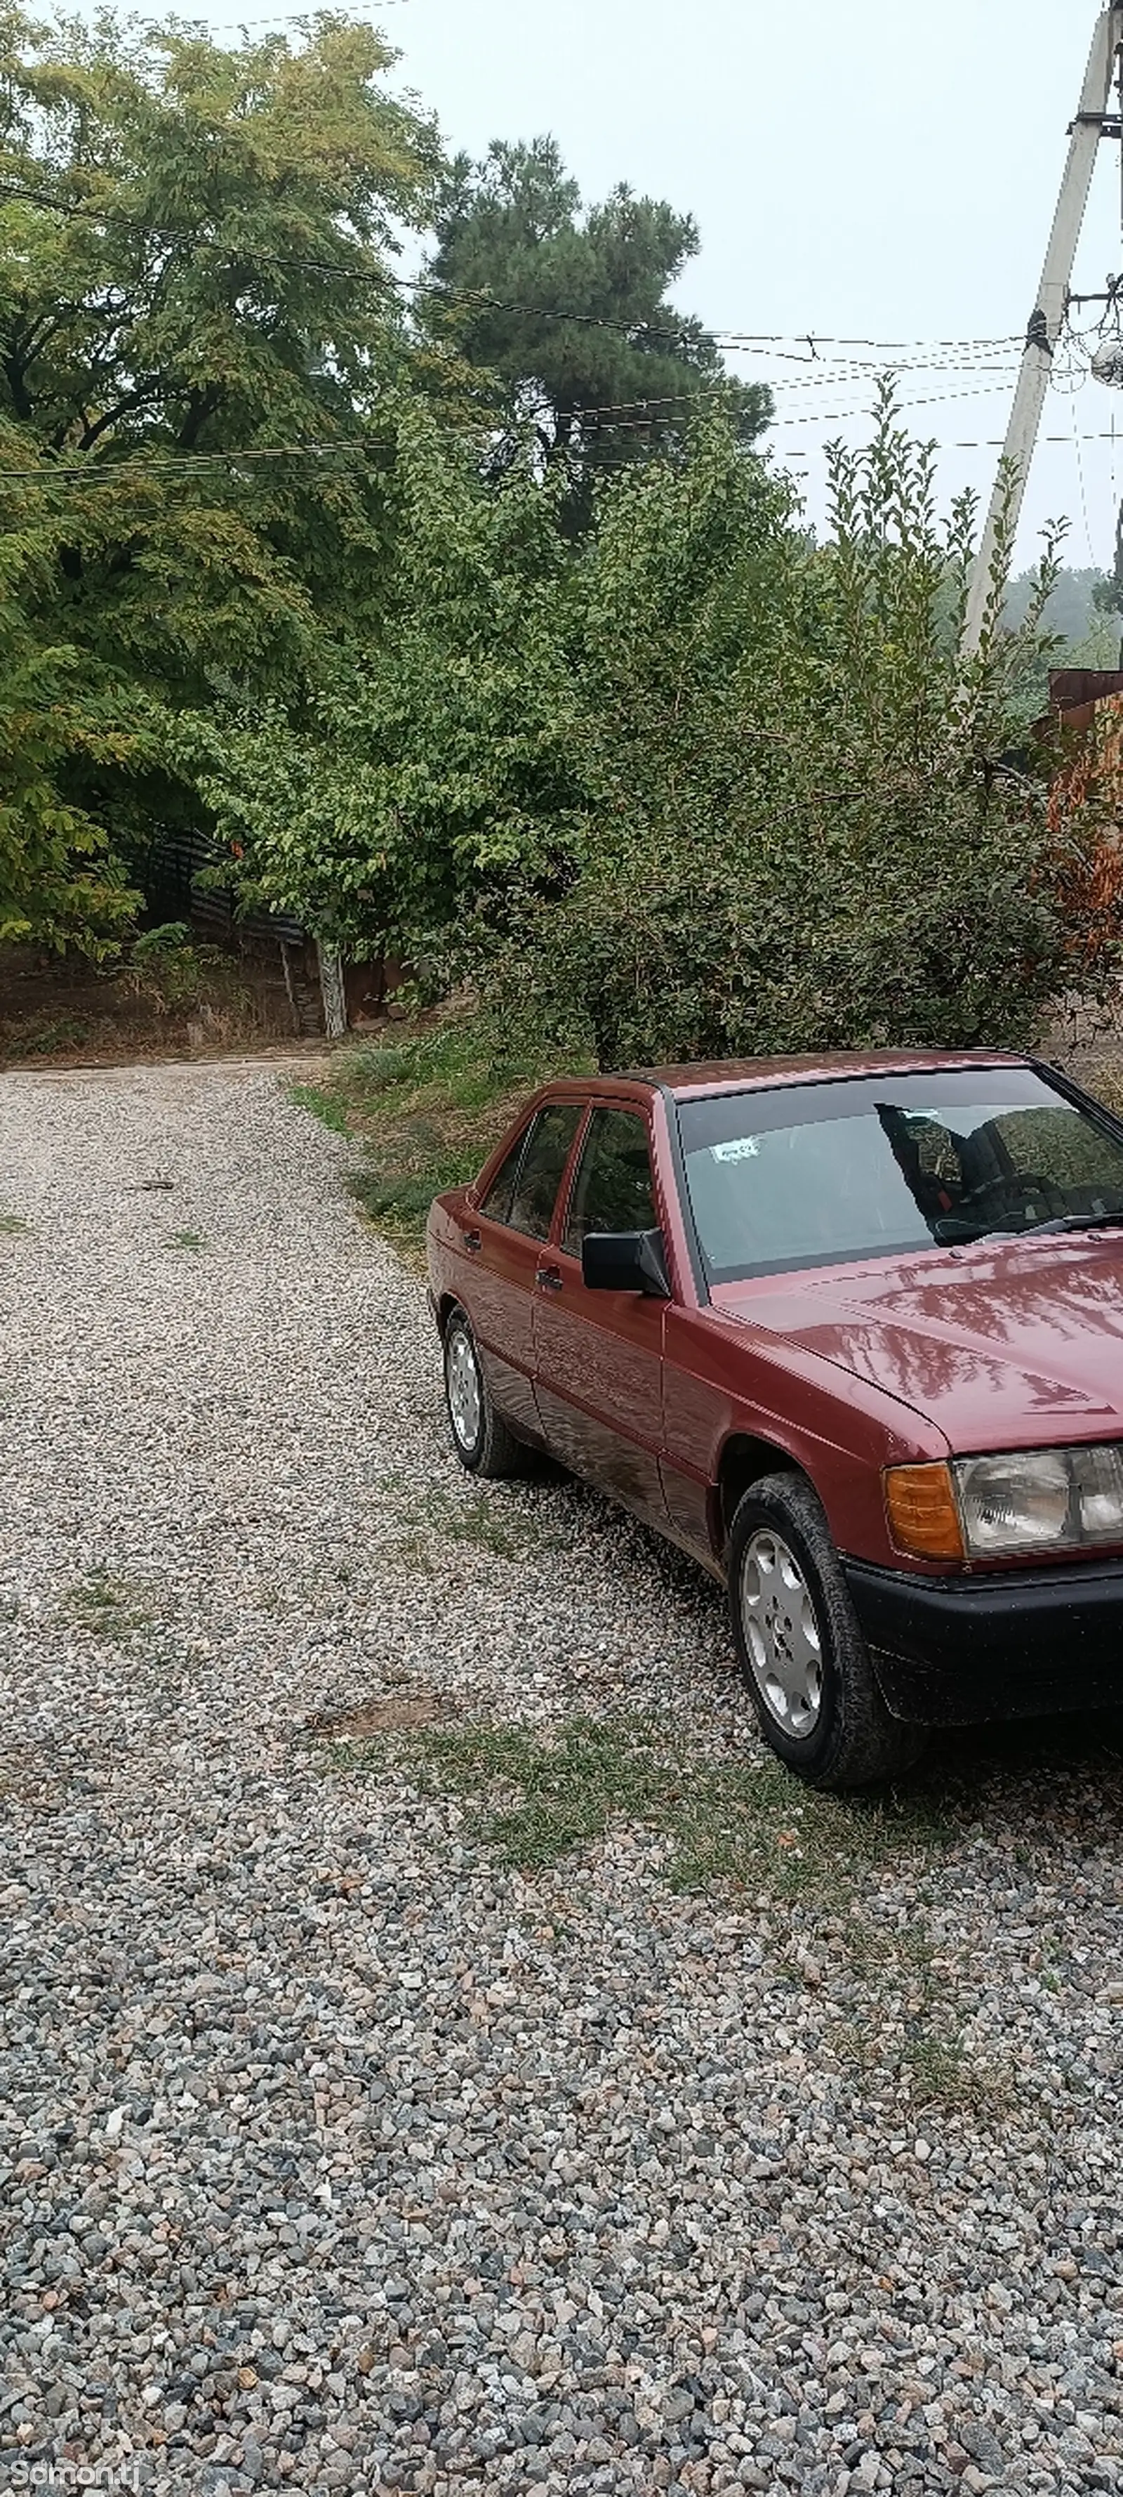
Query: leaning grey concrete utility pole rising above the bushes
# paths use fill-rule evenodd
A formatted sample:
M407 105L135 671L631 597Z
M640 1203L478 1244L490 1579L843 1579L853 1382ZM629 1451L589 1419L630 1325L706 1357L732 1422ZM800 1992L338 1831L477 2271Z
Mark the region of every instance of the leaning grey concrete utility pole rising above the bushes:
M1118 137L1121 130L1118 120L1108 115L1121 42L1123 42L1123 5L1101 10L1088 52L1088 67L1083 72L1081 105L1076 112L1076 122L1071 122L1068 165L1061 182L1061 197L1056 202L1053 232L1048 237L1046 267L1041 270L1038 300L1026 330L1026 355L1021 360L1011 422L1006 427L1003 467L998 469L991 509L986 514L986 529L971 572L971 592L963 624L963 652L968 657L971 652L978 649L978 639L983 632L983 614L991 594L991 562L996 549L998 519L1003 512L1006 474L1013 477L1011 519L1018 522L1021 514L1033 447L1041 427L1041 410L1046 405L1053 347L1056 340L1061 337L1061 322L1066 317L1068 287L1076 262L1076 245L1081 240L1083 212L1088 207L1096 147L1103 132Z

